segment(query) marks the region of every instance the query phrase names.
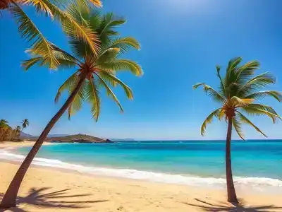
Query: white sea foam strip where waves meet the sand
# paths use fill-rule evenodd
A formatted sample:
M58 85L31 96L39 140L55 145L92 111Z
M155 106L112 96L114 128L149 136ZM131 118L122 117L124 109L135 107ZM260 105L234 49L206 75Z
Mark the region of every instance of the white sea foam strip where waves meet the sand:
M0 151L0 160L13 160L22 162L25 156L11 153L7 150ZM93 175L102 175L108 177L123 177L129 179L143 179L152 182L165 182L169 184L185 184L190 186L200 187L225 187L225 178L215 177L198 177L190 175L173 175L161 172L149 172L142 170L121 169L112 167L89 167L83 165L75 165L72 163L65 163L61 160L52 160L47 158L35 158L32 162L34 165L41 165L47 167L58 167L61 169L75 170L82 173ZM272 179L268 177L234 177L234 182L238 187L253 187L262 190L278 189L282 192L282 180Z

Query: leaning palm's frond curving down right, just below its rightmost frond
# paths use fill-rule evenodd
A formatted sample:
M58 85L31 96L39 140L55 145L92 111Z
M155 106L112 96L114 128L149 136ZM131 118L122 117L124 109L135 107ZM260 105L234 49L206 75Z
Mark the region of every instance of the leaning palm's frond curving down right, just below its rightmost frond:
M123 88L128 99L133 100L133 91L119 78L109 73L108 71L100 71L99 76L104 79L104 81L109 82L112 86L115 86L116 84L120 85Z

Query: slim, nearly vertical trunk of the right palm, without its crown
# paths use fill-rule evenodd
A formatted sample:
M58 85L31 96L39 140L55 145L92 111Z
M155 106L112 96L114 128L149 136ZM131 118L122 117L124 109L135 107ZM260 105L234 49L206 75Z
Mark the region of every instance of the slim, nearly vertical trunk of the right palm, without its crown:
M231 134L232 134L232 117L228 118L228 129L226 136L226 184L227 184L227 196L228 202L238 204L238 199L235 192L232 167L231 167Z

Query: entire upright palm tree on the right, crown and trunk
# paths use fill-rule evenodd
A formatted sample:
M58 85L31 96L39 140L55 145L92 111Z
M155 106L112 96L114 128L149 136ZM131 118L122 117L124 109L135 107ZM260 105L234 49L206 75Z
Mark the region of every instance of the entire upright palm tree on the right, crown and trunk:
M250 61L240 65L242 57L231 59L226 69L225 78L221 78L220 66L216 66L217 76L219 78L219 91L205 83L198 83L193 86L197 88L203 86L204 91L213 100L219 102L221 107L214 110L207 119L204 120L201 128L201 134L204 135L207 124L212 122L213 117L223 118L228 122L226 136L226 183L228 201L238 203L233 184L232 168L231 168L231 133L234 126L238 136L244 140L241 130L242 124L249 124L254 127L263 136L266 136L255 124L253 124L242 112L250 115L265 115L270 117L275 123L276 119L281 119L275 110L268 105L255 103L256 100L262 98L275 98L279 102L282 101L282 93L275 90L262 90L262 88L276 83L274 76L270 73L261 73L254 76L255 71L259 69L259 61Z

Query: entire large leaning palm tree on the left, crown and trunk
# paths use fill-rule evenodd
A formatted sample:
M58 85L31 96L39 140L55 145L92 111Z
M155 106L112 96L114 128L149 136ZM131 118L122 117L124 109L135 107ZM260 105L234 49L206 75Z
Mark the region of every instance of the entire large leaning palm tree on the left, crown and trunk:
M82 101L86 101L90 103L92 117L98 121L101 107L99 88L104 88L106 93L116 102L121 112L123 112L123 108L111 87L121 86L129 99L133 98L133 92L116 76L116 72L129 70L136 76L142 75L142 69L135 61L120 58L121 55L132 48L140 49L139 43L133 37L116 37L118 32L116 32L115 28L119 25L123 25L125 19L118 18L114 16L113 13L107 13L104 16L101 16L97 12L90 13L84 8L74 5L69 6L68 11L72 11L75 17L77 17L76 21L78 23L81 25L90 25L93 32L97 32L101 42L101 48L97 52L97 55L93 54L85 40L72 37L71 34L67 35L70 37L69 44L73 50L73 55L53 45L55 49L54 54L56 55L56 59L60 62L60 66L75 67L77 71L59 88L55 102L59 100L64 90L68 90L68 99L59 112L57 112L47 124L30 153L28 153L22 165L20 165L18 172L13 178L1 202L0 206L2 208L16 205L16 196L23 177L25 176L25 172L27 172L30 163L32 163L33 158L35 158L37 151L42 146L49 131L66 110L68 110L68 117L71 118L71 116L82 107ZM34 58L24 61L23 65L25 69L29 69L30 66L35 64L41 65L42 61L44 61L42 55L35 55Z

